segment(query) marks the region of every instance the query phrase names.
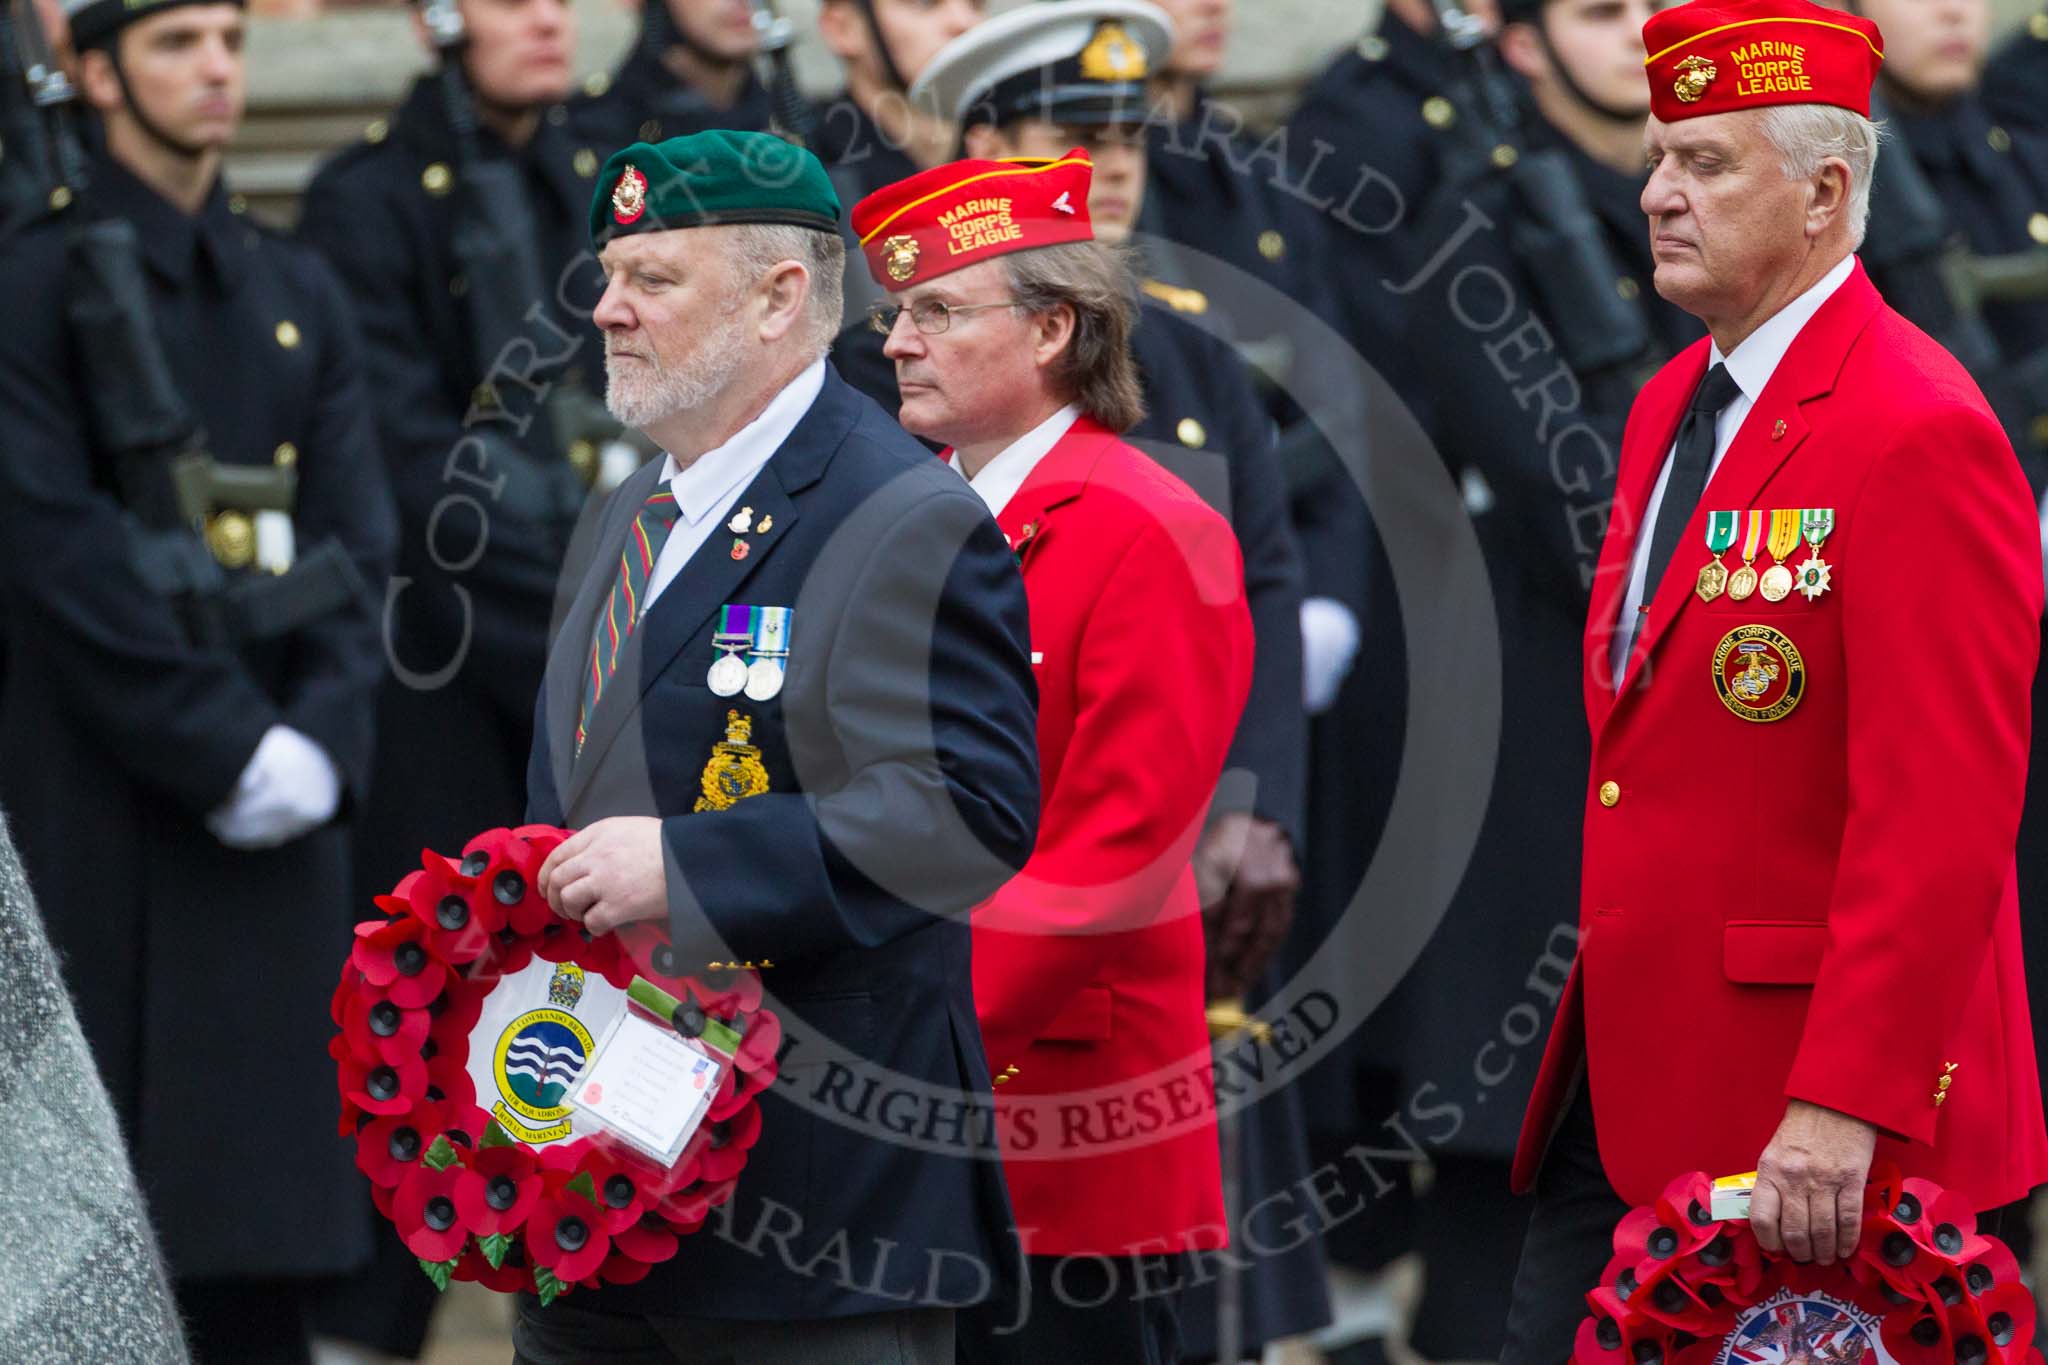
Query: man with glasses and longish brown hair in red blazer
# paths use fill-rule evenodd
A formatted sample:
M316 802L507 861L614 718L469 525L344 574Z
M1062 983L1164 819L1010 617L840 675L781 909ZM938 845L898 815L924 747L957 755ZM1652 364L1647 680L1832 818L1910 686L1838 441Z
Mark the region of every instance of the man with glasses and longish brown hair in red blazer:
M1221 1246L1188 855L1251 681L1229 524L1118 440L1139 415L1135 284L1094 241L1092 166L954 162L854 207L901 422L1010 538L1030 598L1038 847L975 911L1001 1074L1018 1297L963 1361L1176 1357L1171 1261ZM1165 1263L1161 1263L1165 1261Z

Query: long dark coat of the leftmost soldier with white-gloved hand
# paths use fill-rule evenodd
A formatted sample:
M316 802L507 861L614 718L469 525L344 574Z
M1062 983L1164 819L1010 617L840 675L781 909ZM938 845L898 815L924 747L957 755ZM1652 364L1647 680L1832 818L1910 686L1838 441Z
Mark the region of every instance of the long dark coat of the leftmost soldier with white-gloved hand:
M158 336L213 454L268 467L291 442L301 555L332 536L381 589L389 489L332 272L219 188L197 219L113 164L96 190L141 231ZM190 643L129 567L113 471L86 436L63 237L57 217L0 254L18 309L0 329L0 792L172 1271L344 1271L369 1248L326 1054L360 917L348 827L240 853L201 821L272 724L311 737L344 776L344 810L360 804L375 606L238 653Z

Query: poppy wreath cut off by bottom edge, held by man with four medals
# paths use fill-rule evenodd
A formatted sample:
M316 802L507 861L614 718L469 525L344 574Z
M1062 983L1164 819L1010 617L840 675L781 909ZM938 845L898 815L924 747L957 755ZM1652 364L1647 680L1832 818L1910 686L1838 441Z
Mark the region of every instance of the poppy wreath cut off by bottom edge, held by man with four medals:
M1855 1252L1772 1254L1718 1222L1712 1181L1683 1175L1614 1228L1614 1259L1579 1324L1575 1365L2038 1365L2019 1263L1939 1185L1878 1164Z

